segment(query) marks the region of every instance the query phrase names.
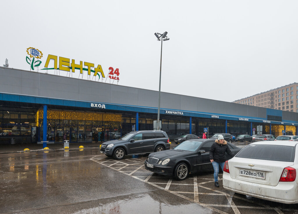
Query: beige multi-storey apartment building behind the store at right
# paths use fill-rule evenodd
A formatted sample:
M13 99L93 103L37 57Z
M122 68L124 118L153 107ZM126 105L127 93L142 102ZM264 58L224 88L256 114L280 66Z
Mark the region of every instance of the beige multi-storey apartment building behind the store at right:
M235 100L233 103L298 112L298 83Z

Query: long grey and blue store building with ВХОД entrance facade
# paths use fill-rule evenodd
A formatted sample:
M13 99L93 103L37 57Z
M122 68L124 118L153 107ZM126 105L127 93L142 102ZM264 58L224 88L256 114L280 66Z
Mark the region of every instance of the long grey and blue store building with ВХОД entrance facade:
M178 100L178 102L177 102ZM0 143L90 142L153 130L158 91L0 67ZM162 130L185 133L296 135L298 114L161 93Z

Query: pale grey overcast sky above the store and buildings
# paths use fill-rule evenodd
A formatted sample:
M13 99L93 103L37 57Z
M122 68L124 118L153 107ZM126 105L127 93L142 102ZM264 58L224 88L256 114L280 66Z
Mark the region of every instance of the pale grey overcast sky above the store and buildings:
M105 77L119 68L119 85L158 91L154 33L167 31L161 91L231 102L298 82L297 11L296 0L1 1L0 64L30 70L34 47L40 69L52 54L100 64Z

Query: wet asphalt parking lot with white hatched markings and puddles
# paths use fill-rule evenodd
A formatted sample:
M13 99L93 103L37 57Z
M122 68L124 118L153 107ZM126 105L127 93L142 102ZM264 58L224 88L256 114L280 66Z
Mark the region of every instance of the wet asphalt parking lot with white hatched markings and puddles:
M114 160L98 147L2 153L0 213L298 213L296 204L229 192L221 180L216 188L212 171L184 181L151 173L146 157Z

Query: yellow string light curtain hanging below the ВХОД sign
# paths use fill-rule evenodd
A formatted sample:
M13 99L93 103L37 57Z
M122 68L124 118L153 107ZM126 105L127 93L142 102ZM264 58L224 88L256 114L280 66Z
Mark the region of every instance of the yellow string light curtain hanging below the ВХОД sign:
M43 123L44 110L36 112L36 126ZM94 113L47 110L47 126L49 127L104 127L122 128L121 114Z

